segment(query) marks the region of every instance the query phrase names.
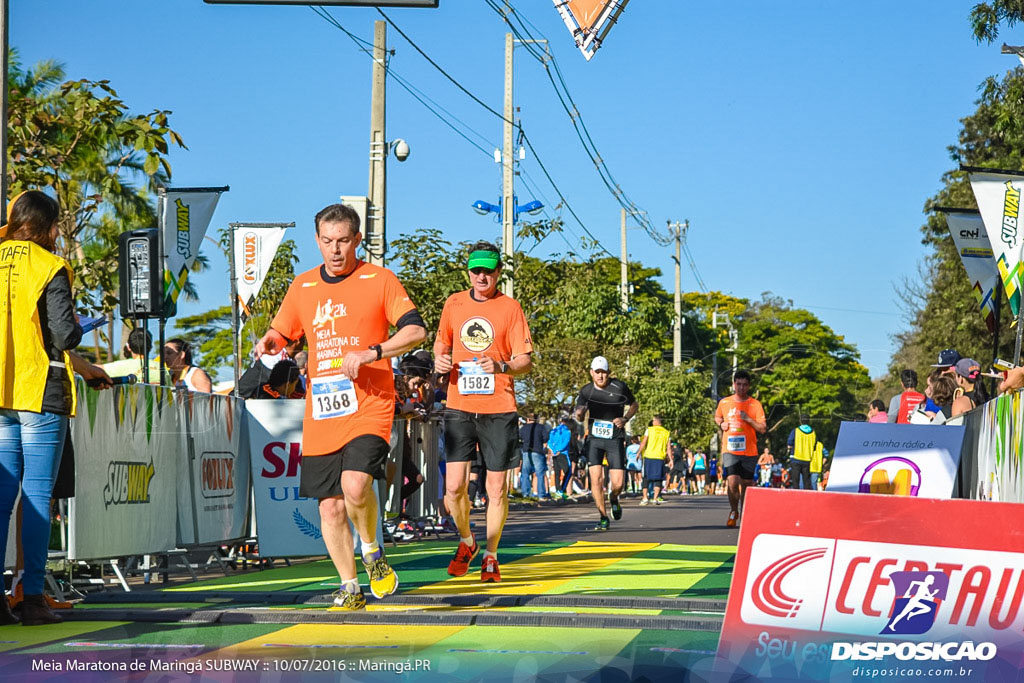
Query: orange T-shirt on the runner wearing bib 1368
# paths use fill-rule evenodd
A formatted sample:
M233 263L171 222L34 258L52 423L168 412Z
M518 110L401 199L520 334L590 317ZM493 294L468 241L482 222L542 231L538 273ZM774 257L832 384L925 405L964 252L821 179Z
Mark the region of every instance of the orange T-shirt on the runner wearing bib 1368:
M317 266L297 275L270 324L288 339L306 336L310 389L318 378L340 380L346 351L361 351L387 341L390 326L416 307L406 288L386 268L359 261L340 282L325 279L324 273L324 266ZM315 397L312 390L306 391L303 456L335 453L356 436L390 438L394 414L391 361L383 358L364 366L351 384L357 410L340 417L314 420Z

